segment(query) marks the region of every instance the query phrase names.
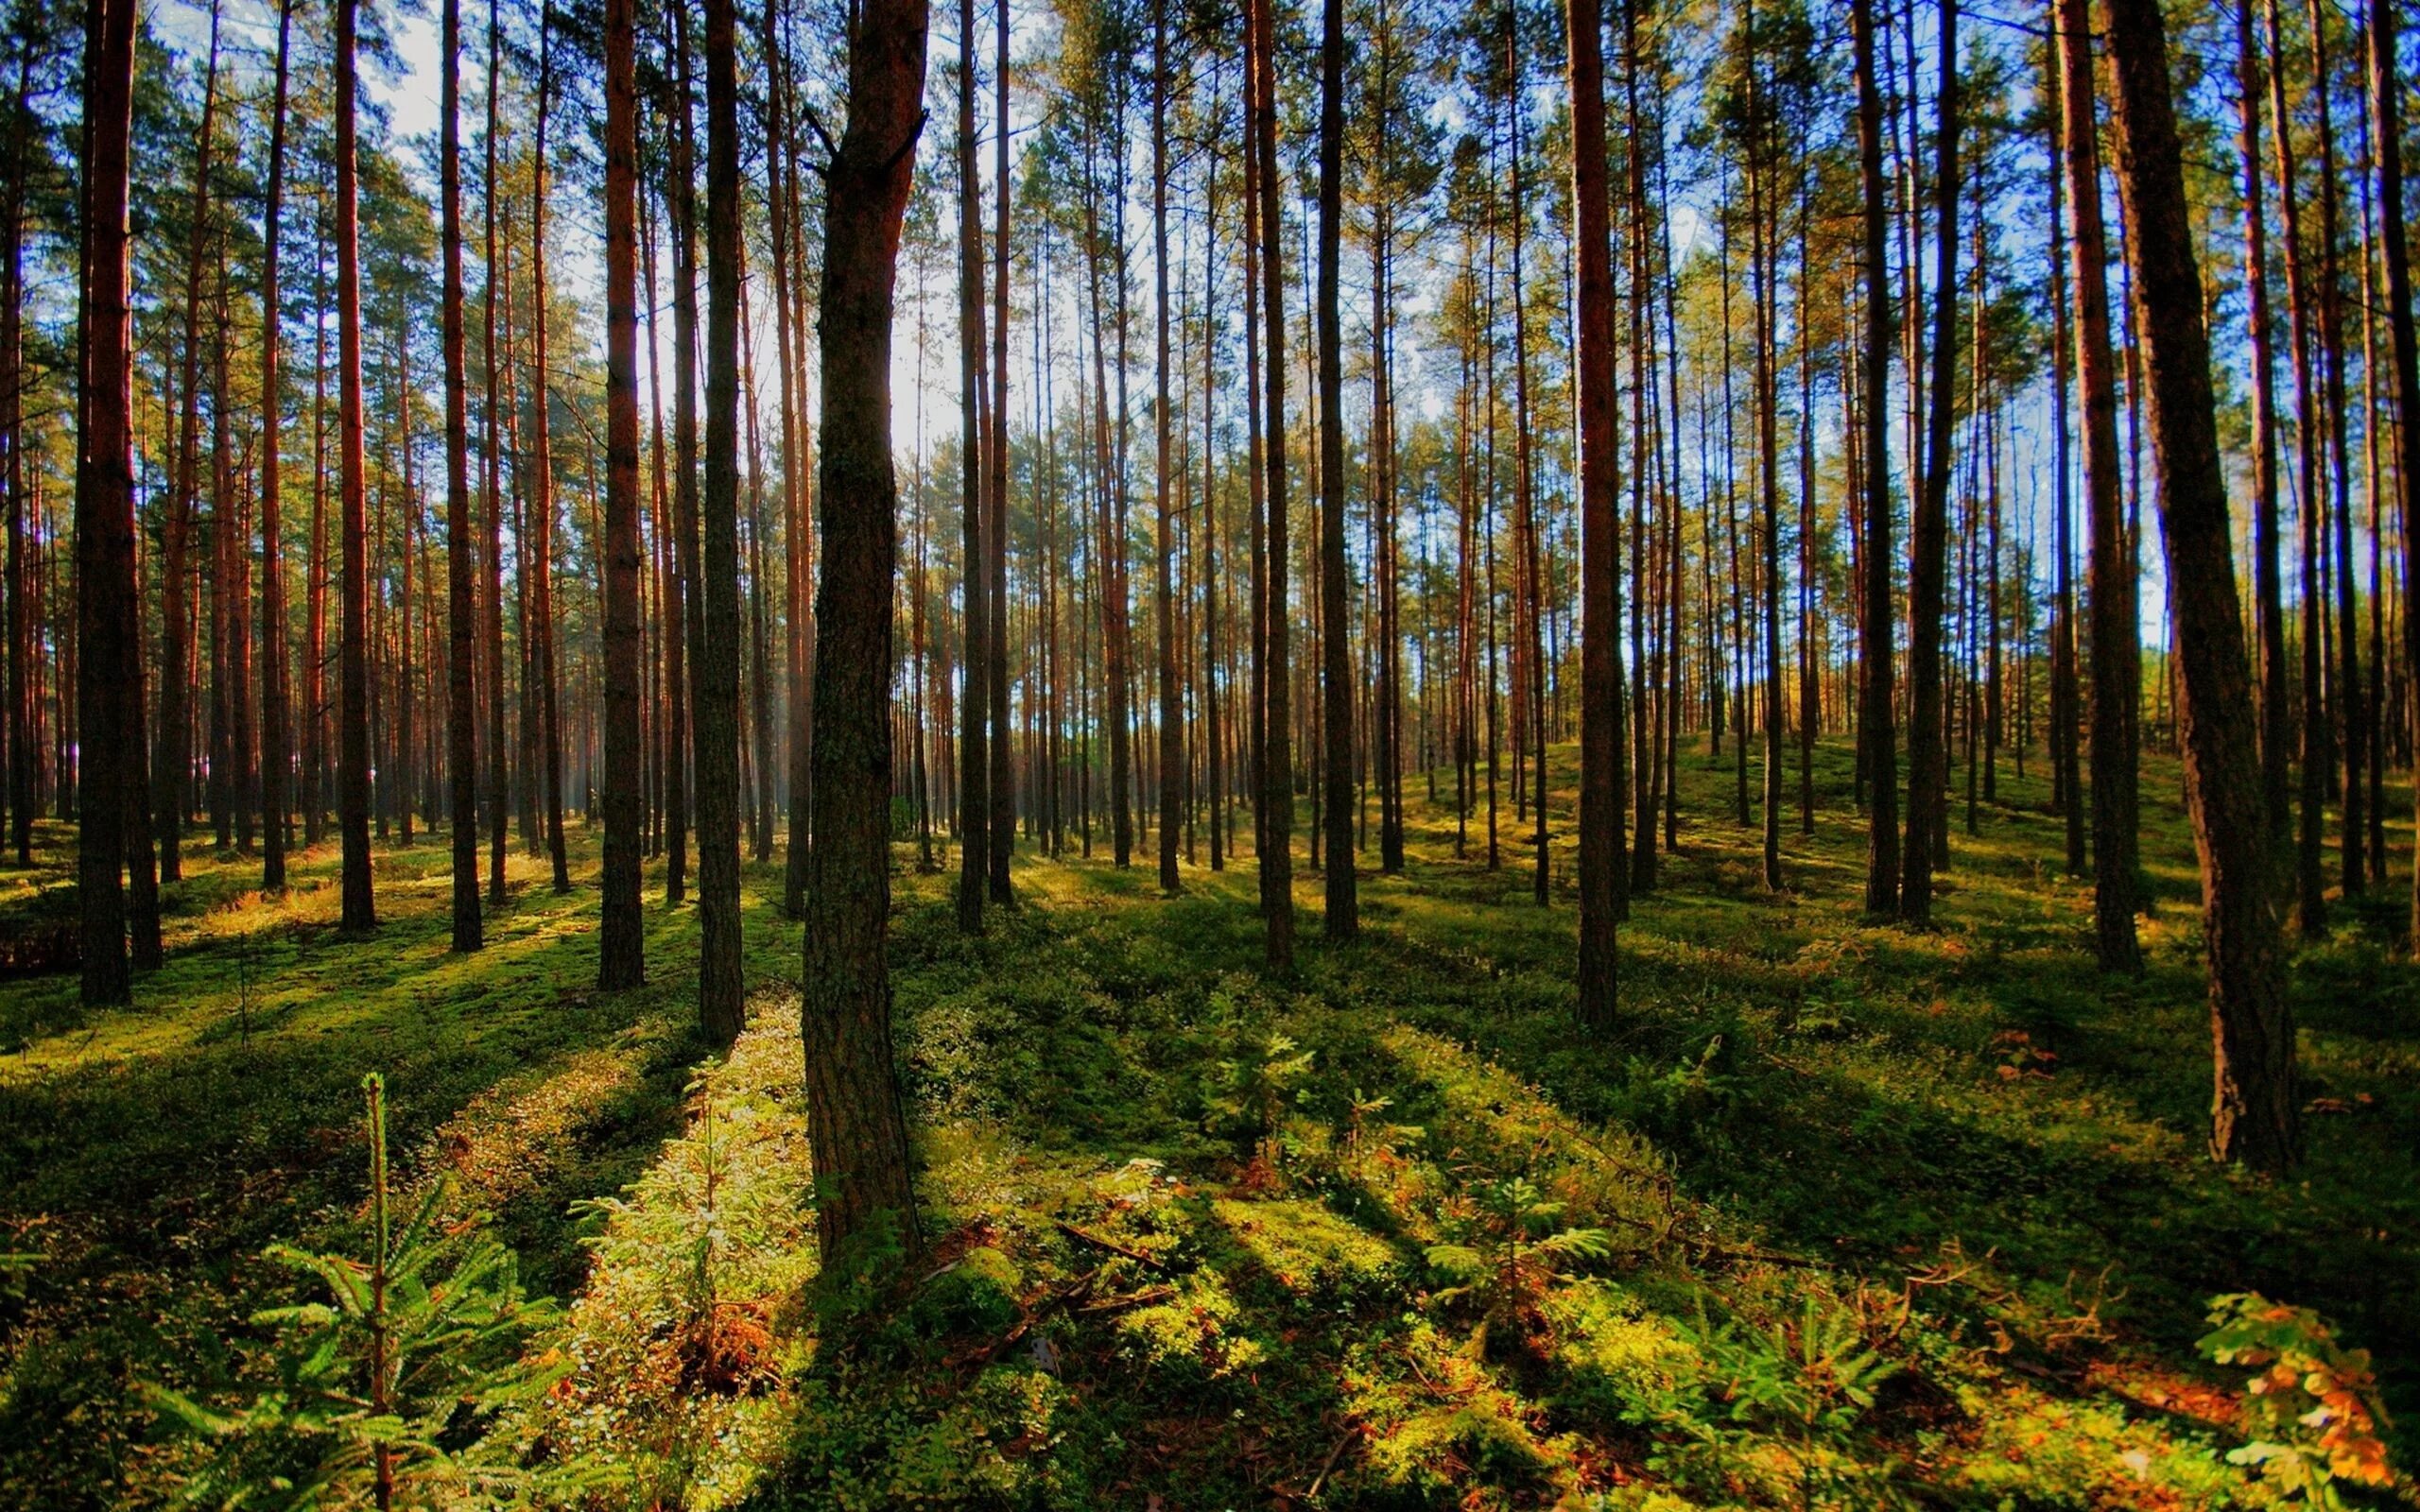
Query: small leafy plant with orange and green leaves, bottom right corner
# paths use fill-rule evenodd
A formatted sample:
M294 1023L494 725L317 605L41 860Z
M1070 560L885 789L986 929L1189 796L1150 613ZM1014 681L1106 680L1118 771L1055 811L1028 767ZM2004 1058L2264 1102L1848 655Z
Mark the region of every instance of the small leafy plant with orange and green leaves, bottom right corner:
M2263 1478L2314 1507L2343 1507L2340 1485L2396 1483L2369 1350L2347 1350L2311 1309L2258 1292L2214 1297L2209 1321L2202 1355L2253 1367L2243 1384L2248 1442L2226 1454L2231 1464L2260 1466Z

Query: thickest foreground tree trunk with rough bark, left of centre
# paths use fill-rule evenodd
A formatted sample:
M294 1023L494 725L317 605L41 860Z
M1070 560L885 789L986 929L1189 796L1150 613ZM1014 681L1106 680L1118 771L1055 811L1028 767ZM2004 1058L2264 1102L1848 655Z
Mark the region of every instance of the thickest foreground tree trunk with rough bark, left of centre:
M721 2L721 0L716 0ZM825 169L823 576L808 854L806 1040L825 1265L888 1231L920 1248L891 1048L891 290L924 102L924 0L864 0L849 116Z

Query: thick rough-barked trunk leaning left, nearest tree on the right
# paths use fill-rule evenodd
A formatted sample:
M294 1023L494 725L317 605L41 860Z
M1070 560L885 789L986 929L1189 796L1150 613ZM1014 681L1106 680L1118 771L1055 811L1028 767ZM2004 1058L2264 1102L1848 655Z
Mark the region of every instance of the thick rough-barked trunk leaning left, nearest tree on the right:
M2185 808L2202 861L2214 1050L2209 1149L2222 1161L2284 1168L2301 1154L2294 1018L2263 844L2251 675L2226 539L2226 474L2171 104L2168 36L2156 0L2110 0L2108 17L2118 186L2176 614Z

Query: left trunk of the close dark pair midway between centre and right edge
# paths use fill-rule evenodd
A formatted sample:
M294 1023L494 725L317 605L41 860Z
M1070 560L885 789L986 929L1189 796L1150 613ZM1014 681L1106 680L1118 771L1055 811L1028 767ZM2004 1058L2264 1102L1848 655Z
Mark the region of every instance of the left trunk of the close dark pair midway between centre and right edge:
M1890 348L1895 346L1890 266L1883 218L1883 92L1873 70L1873 0L1851 0L1849 29L1856 46L1856 167L1861 189L1861 240L1866 273L1866 351L1859 363L1863 394L1859 467L1866 484L1866 585L1859 631L1856 733L1871 798L1866 810L1866 912L1885 917L1900 905L1900 752L1892 733L1892 614L1890 614Z

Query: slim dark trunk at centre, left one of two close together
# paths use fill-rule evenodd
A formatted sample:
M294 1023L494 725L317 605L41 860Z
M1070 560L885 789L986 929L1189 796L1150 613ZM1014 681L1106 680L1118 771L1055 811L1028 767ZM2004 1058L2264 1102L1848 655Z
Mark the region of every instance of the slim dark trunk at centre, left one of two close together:
M1261 917L1273 973L1295 970L1295 755L1287 702L1290 624L1285 605L1285 261L1283 184L1278 179L1278 34L1273 0L1246 0L1246 68L1251 77L1251 152L1258 208L1263 419L1261 462L1266 498L1263 619L1263 750L1261 750Z

